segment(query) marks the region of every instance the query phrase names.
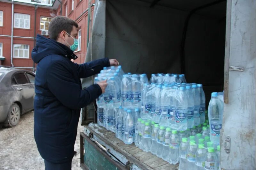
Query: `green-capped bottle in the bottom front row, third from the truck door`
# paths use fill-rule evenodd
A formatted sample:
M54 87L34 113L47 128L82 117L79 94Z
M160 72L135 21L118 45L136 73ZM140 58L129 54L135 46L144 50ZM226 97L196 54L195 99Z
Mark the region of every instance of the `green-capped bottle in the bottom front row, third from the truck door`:
M196 170L204 170L205 155L204 144L198 144L198 149L196 150Z

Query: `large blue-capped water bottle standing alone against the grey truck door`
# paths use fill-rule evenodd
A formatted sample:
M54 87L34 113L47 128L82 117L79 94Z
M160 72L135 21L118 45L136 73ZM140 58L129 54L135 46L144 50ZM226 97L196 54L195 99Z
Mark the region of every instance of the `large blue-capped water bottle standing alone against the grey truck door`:
M212 98L208 107L208 117L210 123L210 139L215 144L220 144L220 130L222 127L223 107L217 97L217 92L212 93Z

